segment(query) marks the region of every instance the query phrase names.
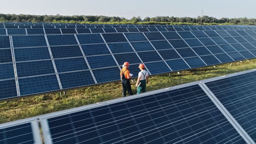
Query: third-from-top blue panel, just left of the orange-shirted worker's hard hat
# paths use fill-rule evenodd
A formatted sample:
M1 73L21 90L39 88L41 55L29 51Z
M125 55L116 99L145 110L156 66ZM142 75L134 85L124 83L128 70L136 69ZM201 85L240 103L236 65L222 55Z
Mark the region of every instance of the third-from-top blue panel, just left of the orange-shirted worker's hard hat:
M91 69L117 66L112 55L86 57Z

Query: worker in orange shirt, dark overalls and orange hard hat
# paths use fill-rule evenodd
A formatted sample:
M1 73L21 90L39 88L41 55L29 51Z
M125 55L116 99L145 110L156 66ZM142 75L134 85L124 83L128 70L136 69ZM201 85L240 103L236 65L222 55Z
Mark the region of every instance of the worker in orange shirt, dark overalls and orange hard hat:
M123 97L126 97L126 91L128 91L129 95L133 95L130 83L130 79L132 77L130 76L130 71L128 69L129 65L129 62L124 62L123 69L120 71L120 77L123 85Z

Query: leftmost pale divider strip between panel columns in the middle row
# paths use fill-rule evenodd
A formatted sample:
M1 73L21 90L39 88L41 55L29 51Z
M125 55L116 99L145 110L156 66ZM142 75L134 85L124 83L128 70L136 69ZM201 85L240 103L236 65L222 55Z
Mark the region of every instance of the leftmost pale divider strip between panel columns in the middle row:
M17 97L20 96L20 86L19 86L19 79L18 79L18 73L17 73L17 67L16 67L16 60L15 60L15 53L13 49L13 37L10 36L10 46L11 46L11 56L13 57L13 69L14 69L14 76L15 76L15 83L16 83L16 91L17 91Z

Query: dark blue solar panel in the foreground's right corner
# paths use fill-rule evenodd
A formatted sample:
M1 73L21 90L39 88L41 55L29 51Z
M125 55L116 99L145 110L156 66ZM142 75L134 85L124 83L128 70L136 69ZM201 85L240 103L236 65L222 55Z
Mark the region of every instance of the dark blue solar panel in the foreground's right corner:
M253 71L206 83L206 86L210 88L254 142L256 142L255 74Z

